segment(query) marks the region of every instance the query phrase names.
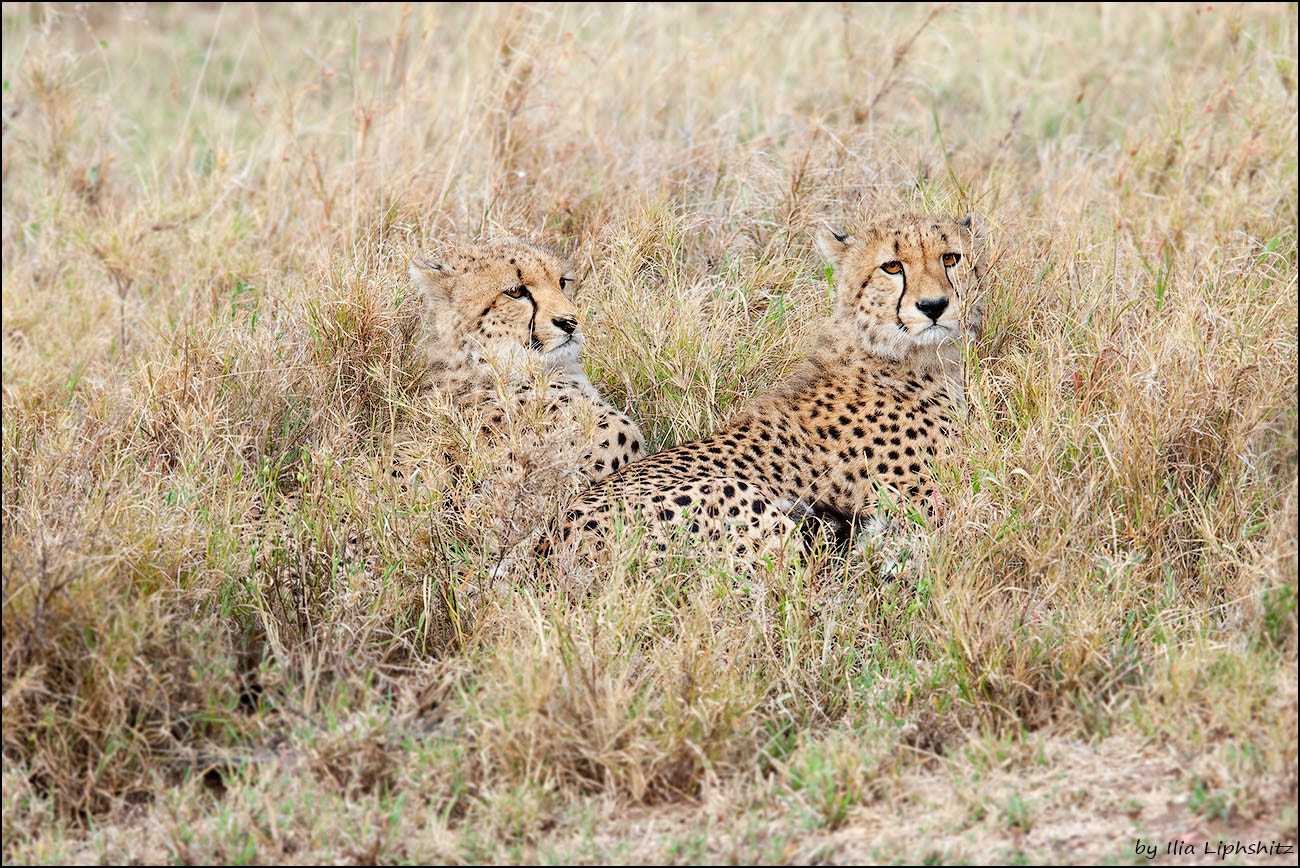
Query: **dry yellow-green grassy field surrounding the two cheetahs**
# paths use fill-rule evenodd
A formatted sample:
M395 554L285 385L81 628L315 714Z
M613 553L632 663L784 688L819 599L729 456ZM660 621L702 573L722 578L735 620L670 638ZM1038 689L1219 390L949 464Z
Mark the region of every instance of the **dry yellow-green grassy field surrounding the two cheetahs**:
M6 3L4 862L1294 843L1296 25ZM996 259L914 574L497 569L572 485L412 399L411 255L571 256L662 448L798 359L811 231L900 207ZM395 489L398 429L464 466Z

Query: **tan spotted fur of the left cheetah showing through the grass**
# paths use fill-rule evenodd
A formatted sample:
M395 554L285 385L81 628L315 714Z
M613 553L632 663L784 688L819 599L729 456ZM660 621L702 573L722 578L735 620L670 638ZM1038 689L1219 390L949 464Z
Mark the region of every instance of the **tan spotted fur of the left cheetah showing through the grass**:
M581 485L644 455L636 422L604 402L582 372L582 330L564 292L573 278L563 260L504 239L448 246L437 261L413 260L410 277L422 296L429 363L413 402L417 416L459 411L471 429L478 429L476 438L471 435L472 448L488 450L488 461L504 476L520 470L511 450L523 442L533 452L534 469L547 461L563 468L555 476L564 477L569 491L575 470ZM520 286L526 298L503 295ZM398 426L387 435L393 464L358 472L377 470L408 490L446 486L468 456L430 450L424 437L420 426ZM550 452L538 456L538 450ZM438 460L430 461L434 455ZM566 466L569 461L572 469ZM300 489L285 495L283 521L300 512L302 498ZM300 559L287 525L281 525L278 539L289 548L290 564ZM274 556L283 555L270 548L264 557ZM355 529L343 541L341 564L370 574L376 569L373 552ZM289 574L296 578L296 568L290 565Z

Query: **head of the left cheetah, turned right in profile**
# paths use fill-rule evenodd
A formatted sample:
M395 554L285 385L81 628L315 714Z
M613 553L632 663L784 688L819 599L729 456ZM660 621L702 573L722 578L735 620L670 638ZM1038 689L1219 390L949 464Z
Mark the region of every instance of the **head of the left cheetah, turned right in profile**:
M450 246L438 260L413 259L411 282L422 292L437 337L486 359L519 353L573 368L582 352L568 264L510 239Z

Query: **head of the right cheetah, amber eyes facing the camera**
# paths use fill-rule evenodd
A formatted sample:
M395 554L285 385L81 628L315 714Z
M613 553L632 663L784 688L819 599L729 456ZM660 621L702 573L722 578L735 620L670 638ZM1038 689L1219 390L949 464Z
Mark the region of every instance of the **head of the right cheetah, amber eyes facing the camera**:
M818 249L835 266L835 318L879 355L975 335L983 321L982 221L892 214L852 234L823 229Z

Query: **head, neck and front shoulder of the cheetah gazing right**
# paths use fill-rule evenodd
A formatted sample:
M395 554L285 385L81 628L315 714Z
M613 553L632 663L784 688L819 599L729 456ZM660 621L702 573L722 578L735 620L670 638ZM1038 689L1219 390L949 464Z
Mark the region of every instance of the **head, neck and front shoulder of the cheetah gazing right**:
M491 440L512 415L540 404L543 425L589 422L575 442L580 470L599 479L640 457L636 422L606 403L580 363L582 327L566 295L575 285L555 255L516 239L448 246L438 261L413 259L429 329L428 387L485 411Z

